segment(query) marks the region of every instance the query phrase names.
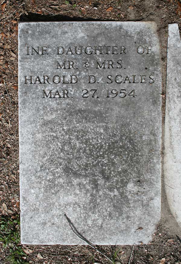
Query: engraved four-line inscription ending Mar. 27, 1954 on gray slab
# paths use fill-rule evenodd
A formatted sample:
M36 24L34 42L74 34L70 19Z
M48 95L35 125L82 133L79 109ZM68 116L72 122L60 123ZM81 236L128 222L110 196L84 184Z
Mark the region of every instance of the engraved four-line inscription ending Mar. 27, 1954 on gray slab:
M98 99L101 97L126 98L128 96L134 99L140 95L142 85L149 84L150 86L155 82L155 76L153 72L149 72L148 65L145 65L139 73L136 65L127 66L128 69L126 69L127 56L137 54L137 56L149 58L153 49L154 47L149 43L135 45L133 48L125 45L67 47L49 47L46 44L44 46L27 45L25 47L27 56L49 55L55 58L51 64L55 71L53 76L50 76L48 72L44 72L43 75L37 72L36 76L27 73L24 75L24 85L30 84L29 87L32 88L36 85L37 93L44 99L72 99L74 97ZM83 56L83 60L79 64L76 60L77 56ZM132 67L131 74L130 67ZM106 74L102 74L103 71ZM81 86L85 84L87 84L86 89L82 89Z

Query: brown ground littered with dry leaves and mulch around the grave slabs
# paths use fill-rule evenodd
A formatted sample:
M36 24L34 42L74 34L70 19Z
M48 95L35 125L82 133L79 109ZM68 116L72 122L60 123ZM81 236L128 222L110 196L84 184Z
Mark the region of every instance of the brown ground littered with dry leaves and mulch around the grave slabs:
M176 0L68 0L0 1L0 215L5 221L19 219L18 159L18 65L17 32L19 21L61 20L155 21L160 37L162 60L163 124L166 89L167 28L178 23L181 31L181 1ZM19 225L15 227L18 232ZM18 263L7 259L16 247L29 263L109 263L90 246L26 246L0 242L0 263ZM148 245L97 246L108 258L119 263L181 263L181 240L172 234L164 221ZM16 260L17 259L17 260Z

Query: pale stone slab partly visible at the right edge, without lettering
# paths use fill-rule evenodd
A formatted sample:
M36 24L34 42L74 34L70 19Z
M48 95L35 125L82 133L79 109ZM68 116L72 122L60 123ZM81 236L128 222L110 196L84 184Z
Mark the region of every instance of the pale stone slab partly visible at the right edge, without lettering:
M173 216L181 225L181 41L177 24L168 26L164 181Z

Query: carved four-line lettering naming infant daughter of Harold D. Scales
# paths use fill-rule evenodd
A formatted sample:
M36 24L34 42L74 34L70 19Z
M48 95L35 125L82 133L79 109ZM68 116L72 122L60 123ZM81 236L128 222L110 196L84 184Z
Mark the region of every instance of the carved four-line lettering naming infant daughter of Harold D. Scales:
M136 42L135 42L136 43ZM52 47L51 47L52 49ZM50 50L51 50L50 49ZM55 50L56 49L56 50ZM49 87L50 84L52 84L52 88L54 89L55 85L59 86L60 84L63 84L63 88L62 90L43 90L43 98L73 98L74 96L72 96L74 93L75 95L79 94L80 95L80 91L79 91L79 87L78 90L73 90L71 88L71 92L69 93L69 84L76 84L78 83L78 76L80 74L81 76L81 67L84 69L84 73L86 73L87 71L87 75L84 74L83 78L81 79L81 81L85 80L84 77L87 77L87 87L90 87L89 85L91 84L91 87L93 89L89 90L89 88L87 89L83 89L82 92L82 98L99 98L99 88L100 83L101 84L113 84L115 85L115 89L107 89L106 87L106 97L107 98L115 98L120 97L120 98L125 98L125 97L135 97L136 93L134 88L131 90L129 89L128 91L126 90L126 87L131 87L131 84L133 86L136 86L137 83L144 85L146 83L154 83L154 75L152 74L148 74L148 66L144 67L143 69L141 69L141 72L139 73L138 71L136 71L136 74L134 74L134 72L131 74L130 71L128 71L128 69L130 68L129 66L127 66L126 64L126 68L124 63L127 60L127 57L122 57L122 59L118 59L117 57L122 55L126 55L127 52L133 52L130 51L129 49L126 49L125 46L56 46L54 49L54 52L56 53L55 55L62 55L62 57L59 58L63 58L55 60L56 63L56 69L59 71L62 71L62 75L59 75L57 72L55 72L55 75L50 76L50 75L25 75L24 76L24 84L30 84L31 86L36 85L44 85L47 86L47 88ZM53 50L53 49L52 49ZM127 52L126 52L127 51ZM152 52L152 46L149 45L140 45L136 48L136 51L138 54L140 55L149 55ZM85 57L85 59L87 61L84 60L78 60L76 64L78 64L78 68L76 68L75 66L75 56L79 56L82 54L86 54L86 55L94 55L93 57L89 57L86 58L88 56ZM48 54L47 53L47 46L26 46L26 55L45 55ZM73 55L73 60L71 60L71 55ZM103 57L103 55L105 55L105 58ZM109 59L106 59L106 55L109 55ZM116 55L116 56L115 56ZM65 56L69 56L67 57L68 60L66 60ZM103 58L102 58L103 57ZM116 58L116 59L115 59ZM132 67L136 65L132 65ZM142 66L141 66L142 67ZM91 68L94 70L94 73L91 73ZM66 71L69 69L71 74L70 75L65 75ZM95 69L97 69L97 73L95 73ZM121 69L121 70L119 70ZM76 70L77 73L76 73ZM136 69L137 70L137 69ZM101 74L102 71L106 71L106 77L104 77L104 75ZM127 72L128 71L128 72ZM113 74L113 72L115 72L115 74ZM72 75L72 73L74 75ZM146 74L147 73L147 74ZM121 86L121 90L118 90L117 87ZM70 86L71 87L71 86ZM102 86L103 87L103 86ZM97 89L94 89L97 88ZM124 89L126 88L126 89ZM96 93L96 96L95 96ZM70 96L71 95L71 96Z

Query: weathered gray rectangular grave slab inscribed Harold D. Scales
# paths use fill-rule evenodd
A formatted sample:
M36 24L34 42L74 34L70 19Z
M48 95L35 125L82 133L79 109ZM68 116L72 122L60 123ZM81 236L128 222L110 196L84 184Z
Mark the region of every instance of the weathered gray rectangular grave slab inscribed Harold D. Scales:
M153 22L19 24L21 243L151 239L160 93Z

